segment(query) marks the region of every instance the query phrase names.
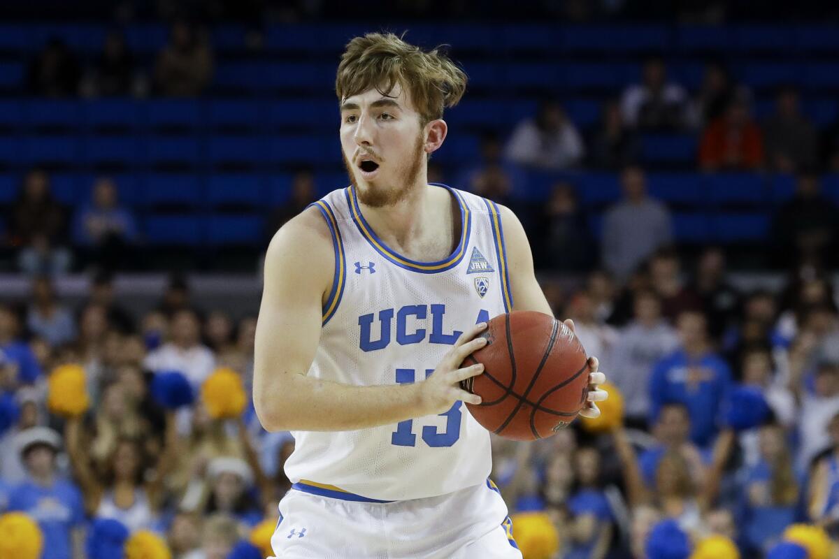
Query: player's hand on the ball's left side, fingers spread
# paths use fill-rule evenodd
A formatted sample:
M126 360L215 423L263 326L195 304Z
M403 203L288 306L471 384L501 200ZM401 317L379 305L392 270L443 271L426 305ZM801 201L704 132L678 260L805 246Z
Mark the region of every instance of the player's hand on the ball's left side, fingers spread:
M483 372L483 365L478 363L462 369L460 366L466 356L487 344L486 338L475 337L485 329L487 329L487 323L477 323L461 334L461 337L443 357L434 372L420 382L418 385L420 387L420 409L423 411L423 415L445 413L458 400L465 401L468 404L477 405L481 403L481 396L461 388L461 380L480 375Z

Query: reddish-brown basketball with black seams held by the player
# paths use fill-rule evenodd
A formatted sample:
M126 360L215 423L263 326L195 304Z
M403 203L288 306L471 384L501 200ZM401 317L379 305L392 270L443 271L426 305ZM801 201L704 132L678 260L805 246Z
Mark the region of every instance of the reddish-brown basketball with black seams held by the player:
M466 404L477 422L502 437L532 441L574 421L586 404L589 366L571 329L547 314L515 311L492 318L481 335L487 345L461 365L484 365L481 375L461 383L482 398Z

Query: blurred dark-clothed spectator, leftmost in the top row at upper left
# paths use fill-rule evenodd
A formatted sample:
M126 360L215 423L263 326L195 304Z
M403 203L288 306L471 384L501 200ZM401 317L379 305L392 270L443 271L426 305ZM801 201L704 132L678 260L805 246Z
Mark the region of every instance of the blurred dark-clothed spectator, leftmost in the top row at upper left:
M34 96L76 96L80 82L81 67L76 54L57 37L47 41L26 72L26 89Z

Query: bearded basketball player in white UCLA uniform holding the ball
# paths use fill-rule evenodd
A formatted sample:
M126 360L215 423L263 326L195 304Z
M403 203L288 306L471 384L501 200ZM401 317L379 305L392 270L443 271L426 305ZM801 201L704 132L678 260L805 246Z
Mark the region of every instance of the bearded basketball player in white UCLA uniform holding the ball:
M265 259L253 401L263 427L295 440L278 557L521 557L487 477L489 433L462 405L481 402L459 382L482 365L458 367L489 318L551 311L515 215L426 182L443 108L465 88L445 55L393 34L341 57L352 185L284 225ZM582 413L597 417L606 393L589 368Z

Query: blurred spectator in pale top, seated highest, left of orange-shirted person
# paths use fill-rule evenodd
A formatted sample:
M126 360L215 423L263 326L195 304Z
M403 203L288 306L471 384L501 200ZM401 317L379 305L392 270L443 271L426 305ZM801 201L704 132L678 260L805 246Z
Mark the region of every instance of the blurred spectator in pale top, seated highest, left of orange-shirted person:
M685 124L687 94L667 81L667 69L659 58L644 63L642 83L623 91L621 111L628 127L647 131L678 130Z

